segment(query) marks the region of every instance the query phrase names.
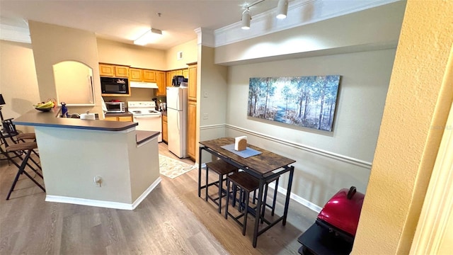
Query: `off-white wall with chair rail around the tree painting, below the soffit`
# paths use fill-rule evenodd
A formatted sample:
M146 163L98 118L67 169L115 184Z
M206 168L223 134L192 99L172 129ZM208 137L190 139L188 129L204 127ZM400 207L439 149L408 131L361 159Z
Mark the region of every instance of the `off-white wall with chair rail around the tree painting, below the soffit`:
M230 67L226 134L247 135L253 145L297 160L292 192L320 207L340 188L365 193L394 55L378 50ZM249 78L328 74L341 75L333 132L248 117Z

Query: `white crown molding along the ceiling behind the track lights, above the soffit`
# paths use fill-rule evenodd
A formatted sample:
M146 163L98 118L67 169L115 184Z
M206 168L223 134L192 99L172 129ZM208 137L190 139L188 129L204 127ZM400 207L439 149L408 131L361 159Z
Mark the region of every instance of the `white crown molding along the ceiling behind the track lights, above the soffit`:
M257 14L251 19L249 30L241 29L241 21L214 30L214 47L256 38L289 28L316 23L328 18L343 16L367 8L391 4L401 0L294 0L288 4L287 18L275 18L277 8ZM238 14L239 15L239 14Z

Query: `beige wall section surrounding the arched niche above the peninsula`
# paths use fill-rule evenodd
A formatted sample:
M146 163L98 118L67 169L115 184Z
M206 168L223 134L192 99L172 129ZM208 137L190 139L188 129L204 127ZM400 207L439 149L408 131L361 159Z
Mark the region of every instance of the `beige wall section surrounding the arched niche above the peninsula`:
M29 21L30 37L35 58L40 98L57 98L53 65L74 60L93 69L93 77L99 77L98 47L96 35L84 30ZM93 79L96 106L71 106L69 113L102 113L101 81Z

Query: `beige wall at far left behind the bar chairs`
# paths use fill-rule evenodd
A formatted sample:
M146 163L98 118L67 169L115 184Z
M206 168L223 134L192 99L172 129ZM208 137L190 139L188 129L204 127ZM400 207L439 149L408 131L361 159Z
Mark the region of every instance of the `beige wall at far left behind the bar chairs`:
M0 93L4 118L17 118L41 101L31 45L0 40ZM45 100L47 98L42 98ZM17 127L25 132L33 128Z

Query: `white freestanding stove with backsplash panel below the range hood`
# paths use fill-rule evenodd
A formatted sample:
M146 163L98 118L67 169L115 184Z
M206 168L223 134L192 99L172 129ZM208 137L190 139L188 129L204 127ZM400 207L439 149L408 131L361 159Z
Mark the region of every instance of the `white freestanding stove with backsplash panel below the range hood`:
M159 142L162 142L162 113L156 111L154 101L128 101L127 111L139 123L137 130L160 132Z

